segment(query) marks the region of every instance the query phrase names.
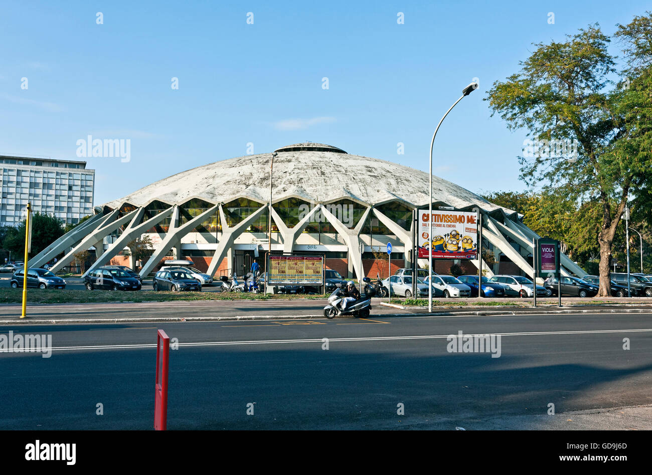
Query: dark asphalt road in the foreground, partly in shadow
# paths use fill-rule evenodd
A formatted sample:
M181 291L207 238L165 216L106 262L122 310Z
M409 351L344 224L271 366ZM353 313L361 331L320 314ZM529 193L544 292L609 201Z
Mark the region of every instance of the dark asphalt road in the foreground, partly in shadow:
M641 313L4 326L53 351L0 353L0 428L151 429L156 328L179 345L169 429L652 428ZM499 358L449 353L459 331Z

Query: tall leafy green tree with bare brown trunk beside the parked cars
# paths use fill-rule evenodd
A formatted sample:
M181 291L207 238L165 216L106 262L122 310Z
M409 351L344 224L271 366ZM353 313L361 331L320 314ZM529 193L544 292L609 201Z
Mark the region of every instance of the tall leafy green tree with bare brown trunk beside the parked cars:
M599 296L610 295L612 243L626 205L632 197L634 205L651 197L651 33L649 13L619 25L628 65L621 73L597 24L564 42L535 44L520 72L488 91L492 115L548 144L519 157L521 179L542 183L562 207L569 200L597 207L591 210L599 212ZM622 79L614 85L617 74Z

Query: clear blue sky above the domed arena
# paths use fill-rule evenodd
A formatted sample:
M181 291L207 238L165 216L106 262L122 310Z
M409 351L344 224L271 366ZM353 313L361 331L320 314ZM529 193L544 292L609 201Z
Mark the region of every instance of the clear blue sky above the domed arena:
M523 190L516 156L526 131L509 132L490 117L486 91L518 70L533 42L563 40L595 22L611 34L649 3L3 1L1 7L0 153L78 160L77 141L89 134L130 139L129 162L85 159L96 170L100 205L179 171L242 156L248 143L254 153L299 141L329 143L428 171L432 132L473 78L480 88L439 129L434 173L474 192ZM620 53L615 43L612 53ZM404 154L397 154L399 142Z

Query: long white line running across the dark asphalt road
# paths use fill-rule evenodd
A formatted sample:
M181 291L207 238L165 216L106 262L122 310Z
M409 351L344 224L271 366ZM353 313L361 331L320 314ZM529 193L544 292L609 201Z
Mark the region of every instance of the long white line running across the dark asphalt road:
M516 332L516 333L486 333L486 334L463 334L466 337L475 337L481 335L500 335L500 336L533 336L533 335L580 335L580 334L604 334L604 333L640 333L652 332L652 328L637 328L625 330L578 330L574 332ZM377 336L362 338L329 338L329 341L393 341L406 339L443 339L458 335L417 335L417 336ZM209 346L230 346L230 345L271 345L271 344L288 344L288 343L322 343L321 338L310 339L268 339L268 340L248 340L248 341L205 341L197 343L177 343L179 347L209 347ZM79 350L111 350L111 349L139 349L139 348L156 348L155 343L138 343L133 345L96 345L81 347L53 347L52 351L79 351ZM29 353L38 351L47 351L48 348L29 349ZM7 351L0 351L7 353ZM12 351L10 353L21 353ZM27 353L27 352L23 352Z

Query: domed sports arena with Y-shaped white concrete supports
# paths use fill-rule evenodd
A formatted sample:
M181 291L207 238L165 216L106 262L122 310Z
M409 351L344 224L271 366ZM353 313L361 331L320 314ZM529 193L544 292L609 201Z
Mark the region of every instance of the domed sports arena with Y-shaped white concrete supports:
M153 248L138 266L143 277L166 259L193 261L215 278L241 276L254 259L264 267L271 233L272 253L325 255L327 268L344 277L385 277L387 242L393 245L391 274L415 259L413 210L428 209L428 180L428 173L385 160L297 143L182 171L95 207L94 216L30 259L29 266L57 257L56 272L76 253L95 250L86 273L108 264L136 268L126 244L148 236ZM480 210L482 246L494 255L490 265L482 265L488 276L531 276L536 235L522 216L438 177L433 201L434 210ZM379 253L382 259L376 259ZM436 261L434 271L448 274L452 263ZM477 261L459 264L477 272ZM561 265L565 275L584 275L565 255Z

